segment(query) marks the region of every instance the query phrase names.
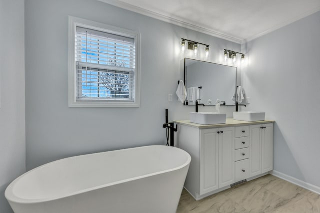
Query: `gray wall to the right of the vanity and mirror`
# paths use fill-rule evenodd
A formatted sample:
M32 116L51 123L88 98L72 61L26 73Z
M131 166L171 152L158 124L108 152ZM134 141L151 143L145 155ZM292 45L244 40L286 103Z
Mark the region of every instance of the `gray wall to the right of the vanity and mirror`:
M320 187L320 12L259 37L244 47L241 81L248 110L274 125L274 170Z

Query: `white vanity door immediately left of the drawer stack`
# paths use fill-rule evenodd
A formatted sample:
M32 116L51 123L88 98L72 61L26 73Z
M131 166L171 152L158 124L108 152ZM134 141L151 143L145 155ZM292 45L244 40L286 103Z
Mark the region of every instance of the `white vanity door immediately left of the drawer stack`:
M219 128L219 188L234 183L234 127Z

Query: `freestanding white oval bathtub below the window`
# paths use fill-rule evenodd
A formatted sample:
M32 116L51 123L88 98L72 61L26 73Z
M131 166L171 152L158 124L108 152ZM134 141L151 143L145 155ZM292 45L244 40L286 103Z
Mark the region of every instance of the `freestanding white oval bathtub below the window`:
M191 157L145 146L65 158L5 190L14 213L174 213Z

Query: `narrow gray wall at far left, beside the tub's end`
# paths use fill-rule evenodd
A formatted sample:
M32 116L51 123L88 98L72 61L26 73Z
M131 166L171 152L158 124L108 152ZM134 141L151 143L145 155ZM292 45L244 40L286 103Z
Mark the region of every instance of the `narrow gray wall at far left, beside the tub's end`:
M25 171L24 0L0 0L0 213L7 185Z

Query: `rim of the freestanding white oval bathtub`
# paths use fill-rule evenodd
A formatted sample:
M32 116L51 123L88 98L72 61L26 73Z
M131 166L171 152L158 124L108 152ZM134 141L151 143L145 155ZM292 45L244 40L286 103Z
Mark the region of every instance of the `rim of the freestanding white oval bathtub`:
M108 186L113 186L113 185L118 185L118 184L122 184L122 183L126 183L126 182L130 182L130 181L134 181L134 180L138 180L138 179L143 179L143 178L147 178L147 177L151 177L151 176L155 176L155 175L159 175L159 174L164 174L164 173L168 173L168 172L172 172L172 171L175 171L175 170L179 170L179 169L182 169L183 167L187 166L188 164L190 164L191 162L191 156L189 153L187 153L186 151L180 149L180 148L177 148L177 147L170 147L170 148L174 148L174 149L177 149L178 152L183 152L186 154L186 157L187 157L187 160L185 163L183 163L182 165L178 166L178 167L174 167L172 169L168 169L168 170L162 170L162 171L158 171L158 172L153 172L153 173L149 173L149 174L146 174L146 175L141 175L141 176L136 176L136 177L133 177L133 178L128 178L128 179L124 179L124 180L120 180L120 181L115 181L115 182L112 182L112 183L108 183L108 184L103 184L103 185L99 185L99 186L95 186L95 187L91 187L91 188L88 188L88 189L83 189L83 190L79 190L79 191L75 191L75 192L72 192L72 193L69 193L69 194L66 194L64 196L60 196L60 197L49 197L49 198L41 198L41 199L25 199L25 198L20 198L20 197L17 197L13 194L13 187L15 186L15 183L18 182L21 178L23 178L25 175L27 175L28 173L31 173L32 171L35 171L35 170L39 170L43 167L47 167L53 163L56 163L56 162L59 162L59 161L64 161L66 159L69 159L69 158L79 158L81 156L89 156L89 155L95 155L95 154L98 154L98 153L106 153L106 152L119 152L121 150L132 150L132 149L138 149L138 148L143 148L143 147L168 147L168 146L165 146L165 145L148 145L148 146L140 146L140 147L132 147L132 148L125 148L125 149L118 149L118 150L111 150L111 151L104 151L104 152L96 152L96 153L90 153L90 154L83 154L83 155L76 155L76 156L71 156L71 157L67 157L67 158L62 158L62 159L58 159L58 160L55 160L55 161L51 161L51 162L48 162L46 164L43 164L43 165L40 165L38 167L35 167L33 168L32 170L26 172L26 173L23 173L22 175L20 175L19 177L17 177L16 179L14 179L5 189L5 192L4 192L4 197L5 199L8 201L8 202L12 202L12 203L19 203L19 204L36 204L36 203L43 203L43 202L48 202L48 201L54 201L54 200L58 200L58 199L62 199L62 198L67 198L67 197L71 197L71 196L74 196L74 195L79 195L79 194L82 194L82 193L85 193L85 192L89 192L89 191L93 191L93 190L97 190L97 189L100 189L100 188L105 188L105 187L108 187Z

